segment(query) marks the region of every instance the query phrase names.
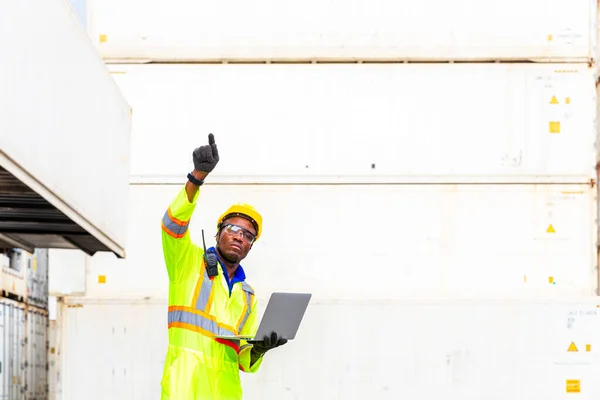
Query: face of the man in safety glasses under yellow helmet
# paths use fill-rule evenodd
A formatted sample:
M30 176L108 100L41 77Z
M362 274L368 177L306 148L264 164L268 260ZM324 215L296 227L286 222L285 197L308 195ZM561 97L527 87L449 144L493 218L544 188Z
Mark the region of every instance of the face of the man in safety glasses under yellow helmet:
M226 261L237 264L248 255L255 236L256 230L247 219L227 218L219 233L219 251Z

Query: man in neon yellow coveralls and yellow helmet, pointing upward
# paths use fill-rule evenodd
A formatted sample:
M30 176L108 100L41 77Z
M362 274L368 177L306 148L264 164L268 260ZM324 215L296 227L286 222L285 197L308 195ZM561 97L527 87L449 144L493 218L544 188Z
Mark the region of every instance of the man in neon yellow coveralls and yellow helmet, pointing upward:
M208 142L194 150L194 170L162 221L169 275L162 400L241 399L240 370L256 372L268 350L287 342L275 332L251 343L215 338L258 329L257 300L240 262L262 234L262 217L249 205L233 205L217 221L216 246L208 254L192 243L188 226L199 188L219 162L212 133Z

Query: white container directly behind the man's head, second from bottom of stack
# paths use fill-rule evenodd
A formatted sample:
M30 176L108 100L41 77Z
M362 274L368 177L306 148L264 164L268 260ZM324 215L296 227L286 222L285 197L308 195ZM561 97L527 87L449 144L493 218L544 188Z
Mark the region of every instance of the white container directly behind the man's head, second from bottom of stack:
M87 298L167 298L160 221L182 187L132 186L128 257L88 258ZM204 229L211 246L217 218L230 204L257 207L264 233L242 265L259 295L587 297L598 288L595 191L589 185L212 185L209 179L190 234L202 245ZM373 274L385 278L365 285ZM62 277L65 287L83 286Z

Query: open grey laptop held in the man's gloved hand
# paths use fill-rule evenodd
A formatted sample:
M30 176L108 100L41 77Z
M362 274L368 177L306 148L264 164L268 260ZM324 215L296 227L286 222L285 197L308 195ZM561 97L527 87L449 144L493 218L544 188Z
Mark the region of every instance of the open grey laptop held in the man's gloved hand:
M265 335L270 335L272 331L275 331L279 337L292 340L296 337L311 296L311 293L275 292L269 298L267 309L260 320L256 335L218 335L215 338L263 340Z

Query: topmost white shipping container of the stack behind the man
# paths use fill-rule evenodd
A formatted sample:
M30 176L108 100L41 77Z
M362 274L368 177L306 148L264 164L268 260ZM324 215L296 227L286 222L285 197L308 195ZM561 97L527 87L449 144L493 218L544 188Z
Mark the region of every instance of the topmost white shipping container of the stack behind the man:
M88 0L109 60L595 59L593 0Z

